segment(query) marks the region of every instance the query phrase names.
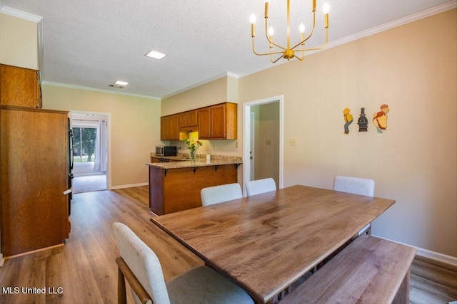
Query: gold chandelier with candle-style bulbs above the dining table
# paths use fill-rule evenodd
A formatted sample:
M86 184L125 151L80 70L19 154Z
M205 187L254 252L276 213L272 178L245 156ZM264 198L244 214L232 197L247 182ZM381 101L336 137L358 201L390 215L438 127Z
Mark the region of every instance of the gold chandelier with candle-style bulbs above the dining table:
M272 63L276 63L281 58L287 59L290 61L293 57L297 58L299 61L303 61L305 58L305 51L319 50L327 45L328 41L328 4L324 4L323 13L325 14L324 26L326 29L326 38L322 46L315 48L305 48L305 42L313 36L314 28L316 27L316 0L313 0L313 28L309 36L305 38L305 26L303 23L300 24L299 30L301 33L300 42L296 46L291 47L291 8L290 0L287 0L287 46L283 47L273 42L273 28L268 29L268 2L265 2L265 36L266 40L270 44L270 51L268 53L257 53L254 48L254 38L256 37L256 16L251 15L251 36L252 36L252 51L258 56L269 55ZM280 48L281 51L273 51L273 46ZM296 53L301 53L301 56L297 56ZM278 58L273 60L273 55L281 54Z

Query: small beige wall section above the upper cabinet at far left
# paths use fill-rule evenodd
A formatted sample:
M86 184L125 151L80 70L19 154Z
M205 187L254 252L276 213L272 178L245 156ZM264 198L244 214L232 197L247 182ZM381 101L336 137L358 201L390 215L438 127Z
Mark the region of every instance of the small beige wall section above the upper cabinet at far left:
M0 63L39 70L37 23L0 13Z

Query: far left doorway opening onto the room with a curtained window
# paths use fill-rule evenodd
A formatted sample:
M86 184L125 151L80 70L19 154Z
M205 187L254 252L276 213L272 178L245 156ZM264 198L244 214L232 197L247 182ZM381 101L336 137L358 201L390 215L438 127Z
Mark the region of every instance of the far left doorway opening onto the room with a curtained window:
M108 115L70 112L73 193L108 188Z

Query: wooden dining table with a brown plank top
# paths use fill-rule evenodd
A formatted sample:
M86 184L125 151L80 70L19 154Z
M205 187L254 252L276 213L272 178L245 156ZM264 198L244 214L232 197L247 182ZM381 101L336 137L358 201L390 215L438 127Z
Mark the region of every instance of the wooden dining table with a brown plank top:
M296 185L151 221L231 278L275 303L395 201Z

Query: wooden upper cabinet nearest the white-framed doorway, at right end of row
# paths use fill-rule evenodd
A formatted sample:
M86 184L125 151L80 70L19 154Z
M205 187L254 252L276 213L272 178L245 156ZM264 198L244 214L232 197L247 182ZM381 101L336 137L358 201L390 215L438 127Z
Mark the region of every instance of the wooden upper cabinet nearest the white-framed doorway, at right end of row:
M199 139L236 140L236 103L221 103L199 109Z

